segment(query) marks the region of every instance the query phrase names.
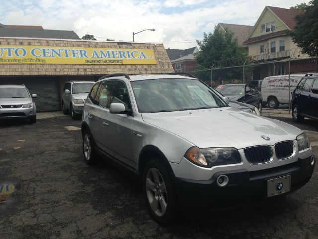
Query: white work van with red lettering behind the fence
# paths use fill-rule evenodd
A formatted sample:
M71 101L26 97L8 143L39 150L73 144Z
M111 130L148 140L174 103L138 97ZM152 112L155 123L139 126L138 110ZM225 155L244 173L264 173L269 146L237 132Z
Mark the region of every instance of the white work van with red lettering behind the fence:
M279 104L288 104L288 96L292 99L292 92L295 90L298 82L305 76L305 74L291 74L290 75L290 91L288 92L288 75L269 76L265 77L261 92L263 102L268 104L269 108L278 108Z

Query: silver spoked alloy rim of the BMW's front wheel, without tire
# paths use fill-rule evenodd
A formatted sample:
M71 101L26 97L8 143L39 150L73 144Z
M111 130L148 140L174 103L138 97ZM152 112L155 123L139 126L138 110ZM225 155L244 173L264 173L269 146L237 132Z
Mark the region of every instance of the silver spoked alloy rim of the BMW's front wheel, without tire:
M167 190L162 175L156 168L150 168L146 176L146 193L152 211L159 217L167 209Z

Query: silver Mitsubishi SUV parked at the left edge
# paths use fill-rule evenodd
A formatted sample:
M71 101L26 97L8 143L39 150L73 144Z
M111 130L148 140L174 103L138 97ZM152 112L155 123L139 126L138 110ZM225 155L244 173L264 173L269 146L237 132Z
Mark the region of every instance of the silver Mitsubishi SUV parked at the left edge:
M36 107L24 85L0 85L0 119L29 119L36 123Z

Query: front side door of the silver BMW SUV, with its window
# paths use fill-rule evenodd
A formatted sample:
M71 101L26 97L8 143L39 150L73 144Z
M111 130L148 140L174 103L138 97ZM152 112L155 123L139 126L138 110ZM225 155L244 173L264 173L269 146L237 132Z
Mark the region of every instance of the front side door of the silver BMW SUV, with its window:
M125 83L115 80L109 105L123 103L126 110L131 110L129 94ZM105 111L103 138L107 141L106 152L126 165L135 168L132 149L133 116L127 114L111 114Z

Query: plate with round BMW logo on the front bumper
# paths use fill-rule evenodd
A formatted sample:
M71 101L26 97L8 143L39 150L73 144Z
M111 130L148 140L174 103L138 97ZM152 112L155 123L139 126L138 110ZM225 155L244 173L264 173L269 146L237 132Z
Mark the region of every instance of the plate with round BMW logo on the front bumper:
M267 197L290 191L290 175L267 180Z

